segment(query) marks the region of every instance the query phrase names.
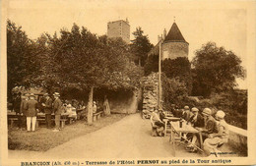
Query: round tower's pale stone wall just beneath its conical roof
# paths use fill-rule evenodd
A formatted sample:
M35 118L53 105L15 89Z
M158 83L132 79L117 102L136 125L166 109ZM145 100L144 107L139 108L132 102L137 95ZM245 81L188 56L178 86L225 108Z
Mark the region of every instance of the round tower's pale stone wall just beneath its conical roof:
M188 43L186 42L164 42L162 44L161 59L175 59L177 57L188 57Z

